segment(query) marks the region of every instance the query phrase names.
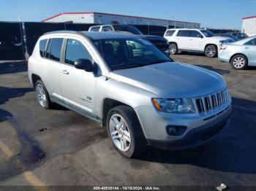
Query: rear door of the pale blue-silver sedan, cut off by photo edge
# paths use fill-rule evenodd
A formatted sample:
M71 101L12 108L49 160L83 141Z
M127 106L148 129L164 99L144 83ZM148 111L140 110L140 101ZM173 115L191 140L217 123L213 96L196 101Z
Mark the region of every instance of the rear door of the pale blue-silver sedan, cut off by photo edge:
M249 65L256 66L256 38L246 42L242 47L244 54L247 56Z

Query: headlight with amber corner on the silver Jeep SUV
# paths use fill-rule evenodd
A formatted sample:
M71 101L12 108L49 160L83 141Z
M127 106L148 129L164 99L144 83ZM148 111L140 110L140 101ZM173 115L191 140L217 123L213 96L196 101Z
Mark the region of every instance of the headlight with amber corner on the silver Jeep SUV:
M195 106L191 99L187 98L153 98L155 108L159 112L193 113Z

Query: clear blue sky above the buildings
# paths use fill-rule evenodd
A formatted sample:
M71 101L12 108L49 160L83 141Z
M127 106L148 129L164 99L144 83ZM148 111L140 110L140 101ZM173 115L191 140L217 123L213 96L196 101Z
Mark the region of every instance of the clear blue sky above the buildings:
M256 15L256 0L8 0L1 1L0 21L41 21L61 12L107 12L241 29L242 17Z

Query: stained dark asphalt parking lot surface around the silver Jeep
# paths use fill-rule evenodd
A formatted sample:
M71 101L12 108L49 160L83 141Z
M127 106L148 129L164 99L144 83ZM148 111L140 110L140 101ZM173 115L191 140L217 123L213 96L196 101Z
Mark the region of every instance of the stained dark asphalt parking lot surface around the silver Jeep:
M226 79L230 127L203 147L148 147L135 159L119 155L96 122L61 106L42 109L24 62L0 63L0 185L256 186L256 68L236 71L203 55L172 58Z

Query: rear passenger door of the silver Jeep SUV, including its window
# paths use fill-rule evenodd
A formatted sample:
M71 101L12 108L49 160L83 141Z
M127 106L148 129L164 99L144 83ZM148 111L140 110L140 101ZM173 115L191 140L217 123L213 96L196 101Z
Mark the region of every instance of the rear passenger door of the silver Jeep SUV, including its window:
M45 43L45 42L41 42ZM60 95L59 69L61 59L62 38L48 39L46 52L40 52L42 58L39 64L40 76L50 95Z

